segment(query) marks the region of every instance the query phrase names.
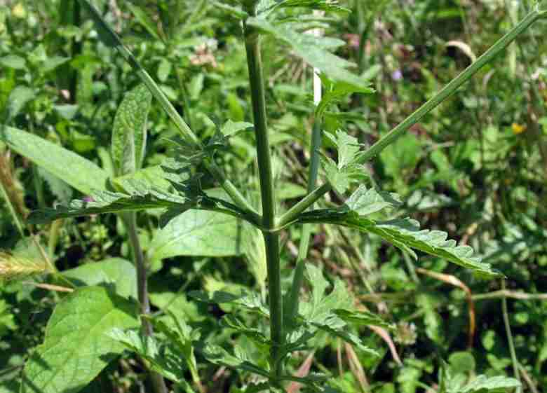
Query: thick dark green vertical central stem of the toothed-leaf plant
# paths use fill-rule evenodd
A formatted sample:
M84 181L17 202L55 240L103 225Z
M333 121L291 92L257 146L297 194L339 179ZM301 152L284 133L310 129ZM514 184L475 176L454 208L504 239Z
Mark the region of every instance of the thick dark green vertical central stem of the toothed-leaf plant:
M255 6L248 6L248 13L255 15ZM252 99L252 116L255 120L257 139L258 172L260 177L260 195L262 198L262 235L266 245L266 264L268 268L268 293L270 305L271 352L270 367L273 378L281 376L283 364L281 347L283 336L283 298L281 296L281 269L279 263L279 235L276 228L274 199L274 179L271 171L271 156L266 125L266 99L264 96L264 75L260 55L259 34L244 23L245 50Z

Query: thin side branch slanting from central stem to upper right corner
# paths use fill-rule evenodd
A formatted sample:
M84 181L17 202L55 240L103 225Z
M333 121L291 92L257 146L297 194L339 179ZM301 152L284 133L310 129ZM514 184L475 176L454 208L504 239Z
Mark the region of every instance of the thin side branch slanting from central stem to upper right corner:
M541 18L545 18L546 15L547 11L539 11L539 8L536 8L534 11L526 15L526 17L522 19L518 23L518 25L513 27L513 29L511 29L507 34L501 37L501 39L494 43L494 45L490 47L485 53L483 53L475 62L473 62L473 64L471 64L464 71L462 71L459 76L452 79L452 81L450 81L450 83L448 83L442 90L440 90L440 92L438 92L435 96L429 99L425 104L420 106L419 109L414 111L414 113L412 113L410 116L405 118L403 122L399 123L396 127L393 128L393 130L384 135L384 137L381 137L381 139L379 139L378 142L370 146L367 151L360 154L358 158L358 163L364 164L367 161L370 161L372 158L381 153L381 151L386 149L387 146L395 142L396 139L403 135L410 127L412 127L412 125L418 123L419 120L426 116L427 113L435 109L435 107L437 107L441 102L450 97L450 95L454 94L454 92L456 92L456 90L460 88L461 85L466 83L473 75L475 75L482 67L484 67L485 64L490 62L496 55L504 50L504 48L506 48L509 43L517 38L517 36L522 34L522 32L525 32L525 30L530 25L532 25L534 22ZM327 193L328 191L330 191L330 189L330 184L323 184L323 186L316 188L316 190L314 191L316 195L307 195L304 199L298 202L297 205L293 206L292 209L283 214L283 216L281 216L281 219L279 219L278 221L278 226L284 226L287 223L290 223L291 221L296 219L300 213L304 212L308 207L313 205L313 203L316 202L316 200L320 198L321 195ZM323 194L318 195L318 191L322 191Z

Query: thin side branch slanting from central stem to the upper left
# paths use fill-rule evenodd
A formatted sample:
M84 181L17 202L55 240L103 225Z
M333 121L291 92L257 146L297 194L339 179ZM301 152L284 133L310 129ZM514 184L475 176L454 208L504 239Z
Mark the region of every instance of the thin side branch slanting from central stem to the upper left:
M142 83L144 83L144 85L147 85L147 88L149 88L151 94L154 96L154 98L158 100L163 110L166 111L169 118L173 121L173 123L175 123L177 129L181 132L182 136L187 140L187 142L192 144L195 149L202 150L203 144L201 144L201 141L190 129L184 119L180 116L180 114L177 112L173 104L171 104L163 91L161 91L161 88L159 88L156 82L154 82L154 79L151 78L151 76L144 69L144 67L142 67L142 65L137 61L135 56L133 56L133 53L131 53L130 50L128 50L128 48L123 45L121 39L114 32L114 30L112 30L109 25L104 22L104 20L102 19L102 15L100 15L99 11L97 11L97 9L92 6L88 0L80 1L81 4L87 9L87 11L92 15L97 27L99 27L98 31L104 44L118 50L121 56L137 73L137 76L139 76ZM231 181L224 177L222 171L215 167L214 163L209 161L206 162L205 165L208 171L210 171L210 173L212 174L212 176L215 177L215 179L222 184L224 190L228 193L228 195L230 195L230 198L234 200L238 207L241 207L242 209L248 209L250 212L255 213L255 209L252 208L252 205L250 205L250 203L245 200L243 195L241 195L241 193L237 191L236 186L234 186Z

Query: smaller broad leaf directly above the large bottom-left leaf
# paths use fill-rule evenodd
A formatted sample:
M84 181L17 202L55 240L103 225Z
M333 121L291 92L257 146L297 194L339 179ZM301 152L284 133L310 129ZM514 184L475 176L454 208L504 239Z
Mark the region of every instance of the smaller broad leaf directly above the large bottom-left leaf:
M61 273L78 287L107 284L124 298L137 299L137 273L130 261L108 258L100 262L86 263Z

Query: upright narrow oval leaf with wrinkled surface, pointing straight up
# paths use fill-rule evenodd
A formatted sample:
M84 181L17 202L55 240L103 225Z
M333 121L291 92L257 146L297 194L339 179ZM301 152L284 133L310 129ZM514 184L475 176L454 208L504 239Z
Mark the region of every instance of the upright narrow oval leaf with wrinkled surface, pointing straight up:
M112 129L112 161L116 174L139 170L144 160L147 140L147 116L152 95L145 85L138 85L121 102Z

